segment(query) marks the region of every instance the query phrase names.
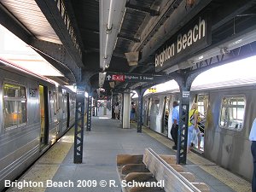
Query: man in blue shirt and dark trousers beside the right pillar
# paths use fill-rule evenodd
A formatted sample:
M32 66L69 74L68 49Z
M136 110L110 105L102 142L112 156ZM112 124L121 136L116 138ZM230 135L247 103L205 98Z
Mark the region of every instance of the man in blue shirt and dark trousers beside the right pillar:
M177 131L178 131L178 119L179 119L179 108L178 108L178 103L173 102L172 104L173 109L172 109L172 130L171 130L171 135L172 139L174 141L174 146L172 149L177 150Z

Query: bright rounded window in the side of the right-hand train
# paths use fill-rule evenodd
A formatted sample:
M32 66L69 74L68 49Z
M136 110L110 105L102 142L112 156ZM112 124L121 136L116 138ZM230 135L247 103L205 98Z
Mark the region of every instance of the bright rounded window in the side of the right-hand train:
M220 126L230 130L241 130L244 112L244 96L224 96L220 113Z

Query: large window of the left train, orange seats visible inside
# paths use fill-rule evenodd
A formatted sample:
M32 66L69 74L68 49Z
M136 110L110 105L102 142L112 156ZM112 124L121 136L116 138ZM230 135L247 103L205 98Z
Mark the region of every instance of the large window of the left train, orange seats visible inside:
M16 84L3 84L4 128L26 125L26 89Z

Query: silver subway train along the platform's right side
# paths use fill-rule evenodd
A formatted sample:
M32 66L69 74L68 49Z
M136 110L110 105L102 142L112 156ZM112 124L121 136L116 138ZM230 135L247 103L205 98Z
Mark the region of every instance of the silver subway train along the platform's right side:
M195 150L249 181L253 176L253 157L248 137L253 119L256 118L255 85L256 78L237 79L192 86L190 91L190 106L192 102L198 103L204 123L201 148L196 147ZM137 103L137 98L132 101ZM172 138L174 101L179 101L178 89L144 96L143 125ZM169 115L165 121L166 112Z

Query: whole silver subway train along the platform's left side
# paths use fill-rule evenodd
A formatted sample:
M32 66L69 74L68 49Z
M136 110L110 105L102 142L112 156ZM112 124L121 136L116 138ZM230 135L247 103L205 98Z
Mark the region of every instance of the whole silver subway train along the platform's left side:
M0 59L0 191L75 121L75 93Z

